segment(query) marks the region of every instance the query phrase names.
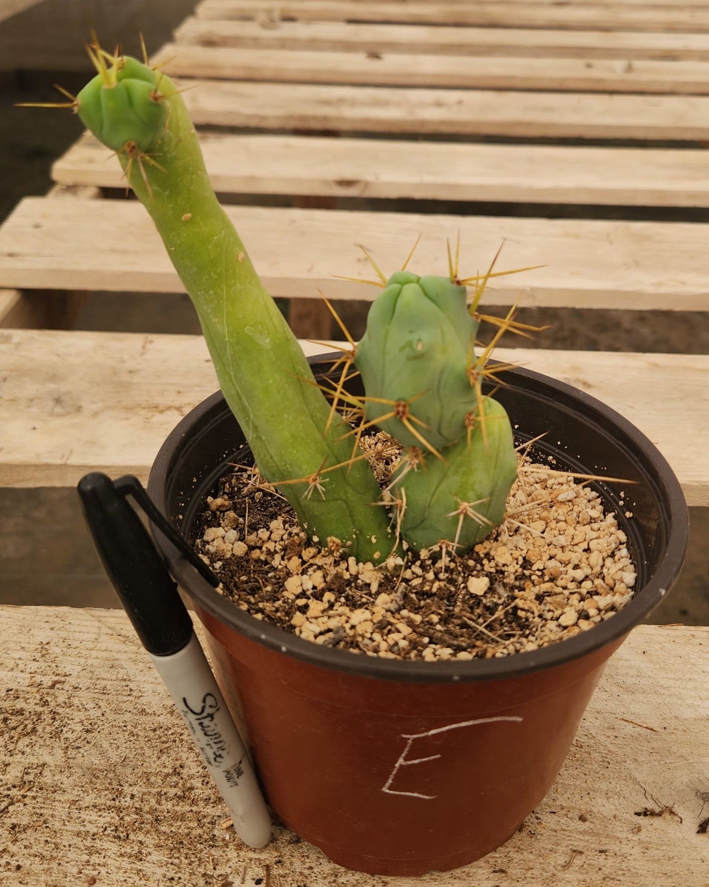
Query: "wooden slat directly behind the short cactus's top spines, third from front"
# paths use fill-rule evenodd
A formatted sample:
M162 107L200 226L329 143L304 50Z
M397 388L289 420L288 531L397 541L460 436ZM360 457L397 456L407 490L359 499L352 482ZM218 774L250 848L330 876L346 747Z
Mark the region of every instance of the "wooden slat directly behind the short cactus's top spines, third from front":
M709 310L706 224L264 207L226 211L274 296L312 298L322 289L334 299L373 299L375 287L333 277L371 275L355 243L373 249L390 273L424 232L413 270L446 273L445 241L460 231L466 274L486 267L503 241L501 269L544 265L493 281L486 295L491 304L523 298L530 306ZM59 205L26 198L0 229L0 287L182 291L150 217L132 200Z

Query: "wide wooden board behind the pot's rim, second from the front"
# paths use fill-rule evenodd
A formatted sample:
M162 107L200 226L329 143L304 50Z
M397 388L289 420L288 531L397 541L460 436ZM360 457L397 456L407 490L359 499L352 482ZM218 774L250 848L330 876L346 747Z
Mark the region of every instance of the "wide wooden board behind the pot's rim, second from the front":
M621 412L664 453L689 504L709 505L709 357L497 354ZM145 479L172 428L217 389L201 336L2 330L0 367L3 486L73 486L94 469Z

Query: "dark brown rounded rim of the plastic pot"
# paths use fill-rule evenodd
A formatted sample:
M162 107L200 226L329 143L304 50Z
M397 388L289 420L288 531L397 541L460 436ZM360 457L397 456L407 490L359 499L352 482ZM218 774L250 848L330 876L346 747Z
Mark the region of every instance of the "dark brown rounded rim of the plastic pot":
M319 362L324 362L328 357L333 356L333 353L317 355L309 358L309 363L318 365ZM581 632L568 640L557 641L548 647L528 652L500 656L500 658L447 660L440 663L382 659L374 656L354 655L350 650L323 648L311 641L302 640L295 634L284 632L275 625L255 619L246 611L234 606L231 600L218 593L193 569L184 555L179 553L168 539L163 537L158 530L153 529L155 542L168 561L172 575L177 578L177 582L193 600L196 607L203 609L220 623L249 640L254 640L256 643L284 655L291 655L305 663L370 679L437 684L518 678L533 671L567 663L572 659L593 653L614 640L623 638L635 625L642 622L644 616L659 600L664 598L681 569L689 534L689 513L680 483L655 444L624 416L603 404L602 401L566 382L558 381L551 376L536 373L533 370L515 368L506 370L505 374L528 382L541 383L547 388L555 389L560 394L573 398L590 412L601 413L605 420L610 420L626 437L630 438L635 451L641 451L646 461L649 461L656 469L659 480L658 492L664 494L666 509L669 512L669 532L665 555L650 580L611 619L595 624L587 632ZM195 406L172 430L155 457L148 479L148 492L162 514L167 512L165 492L169 467L175 452L185 437L193 432L195 426L199 426L201 420L221 402L224 402L224 396L221 391L217 391Z

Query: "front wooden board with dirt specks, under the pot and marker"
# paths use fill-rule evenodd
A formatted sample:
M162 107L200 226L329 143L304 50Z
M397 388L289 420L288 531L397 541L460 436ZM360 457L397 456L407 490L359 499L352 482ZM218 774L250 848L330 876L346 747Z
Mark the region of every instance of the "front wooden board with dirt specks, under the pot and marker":
M283 828L249 850L122 612L0 608L4 883L705 887L709 629L642 626L505 846L422 878L349 872ZM639 816L669 807L665 816ZM95 880L92 880L95 879Z

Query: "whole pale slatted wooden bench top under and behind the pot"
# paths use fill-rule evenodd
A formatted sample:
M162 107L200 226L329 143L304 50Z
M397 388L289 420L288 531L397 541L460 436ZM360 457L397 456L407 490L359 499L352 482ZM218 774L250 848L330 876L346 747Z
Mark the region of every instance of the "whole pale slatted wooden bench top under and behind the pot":
M505 267L544 266L498 279L488 303L634 310L639 322L650 309L709 311L709 224L603 217L709 207L709 0L206 0L156 59L168 54L183 85L198 87L185 101L217 192L303 339L329 332L318 289L376 294L333 277L366 276L355 244L389 271L420 233L416 261L429 271L445 273L457 232L470 273L502 240ZM71 487L92 469L145 480L171 428L217 386L201 337L62 328L87 294L182 291L108 154L81 138L55 164L51 194L23 200L0 228L4 487ZM406 212L383 200L405 200ZM496 216L479 215L485 201ZM516 216L519 203L537 217ZM548 204L577 217L550 218ZM707 506L709 357L633 348L500 356L623 412L666 455L689 504ZM705 887L706 671L705 630L637 629L524 834L427 883ZM14 823L0 865L20 865L18 883L374 885L286 832L263 852L234 847L122 615L0 608L0 682L13 687L11 717L36 727L30 737L12 721L0 738L0 817ZM137 710L160 730L146 737ZM81 779L58 736L80 736ZM144 752L130 762L127 738ZM176 747L187 762L178 777ZM169 817L155 829L141 817L160 815L159 794ZM635 815L646 808L666 809Z

